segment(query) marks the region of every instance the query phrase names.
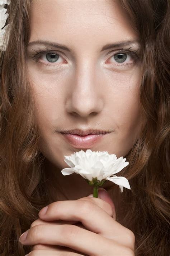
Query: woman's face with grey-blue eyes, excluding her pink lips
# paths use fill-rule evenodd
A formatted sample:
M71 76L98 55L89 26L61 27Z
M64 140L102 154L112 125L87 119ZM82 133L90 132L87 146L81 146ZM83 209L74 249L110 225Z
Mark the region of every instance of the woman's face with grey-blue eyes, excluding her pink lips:
M81 149L125 156L140 131L141 64L139 38L123 8L113 0L33 0L31 14L29 42L53 44L27 50L41 152L61 168L68 167L65 155ZM133 42L118 45L125 41ZM115 46L102 49L108 44ZM77 148L60 133L76 128L111 133Z

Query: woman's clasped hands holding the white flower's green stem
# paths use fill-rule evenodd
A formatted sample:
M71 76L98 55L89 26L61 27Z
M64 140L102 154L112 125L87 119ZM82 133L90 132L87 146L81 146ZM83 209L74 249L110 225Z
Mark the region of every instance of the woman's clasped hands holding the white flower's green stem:
M108 193L99 190L99 195L100 198L83 197L72 201L53 202L48 205L45 215L40 211L39 217L41 221L45 221L44 224L34 225L34 221L27 230L27 239L20 241L24 245L35 246L29 255L40 256L50 253L50 255L134 256L133 232L114 219L116 217L114 204ZM67 224L54 223L57 220L67 221ZM47 224L47 221L51 223ZM73 222L79 221L81 226L72 225ZM38 250L35 249L36 246ZM60 251L60 247L71 250Z

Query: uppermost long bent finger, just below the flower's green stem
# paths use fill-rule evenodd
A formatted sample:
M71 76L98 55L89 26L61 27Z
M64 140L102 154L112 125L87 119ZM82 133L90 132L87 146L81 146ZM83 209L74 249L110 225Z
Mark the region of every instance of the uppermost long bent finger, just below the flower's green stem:
M95 198L96 202L99 202L100 205L103 206L101 208L94 204L94 198L86 199L53 202L48 205L45 215L42 215L41 212L39 212L39 217L47 221L80 221L86 229L101 234L107 238L112 238L113 235L115 235L115 231L118 232L117 235L124 232L124 229L126 228L110 216L113 214L113 209L109 203L100 198ZM103 208L106 208L108 212L110 211L110 215L107 214Z

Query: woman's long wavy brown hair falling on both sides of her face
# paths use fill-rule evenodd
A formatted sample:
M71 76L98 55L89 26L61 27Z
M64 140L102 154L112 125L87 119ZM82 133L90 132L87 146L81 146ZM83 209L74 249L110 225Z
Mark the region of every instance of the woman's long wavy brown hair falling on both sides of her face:
M141 38L140 137L125 156L131 190L117 189L117 221L135 235L136 256L166 256L169 251L169 0L119 0ZM11 0L9 42L0 57L0 254L24 256L31 247L20 235L48 205L44 156L39 151L34 94L29 83L26 45L30 0ZM117 186L118 187L118 186ZM112 189L109 191L113 197Z

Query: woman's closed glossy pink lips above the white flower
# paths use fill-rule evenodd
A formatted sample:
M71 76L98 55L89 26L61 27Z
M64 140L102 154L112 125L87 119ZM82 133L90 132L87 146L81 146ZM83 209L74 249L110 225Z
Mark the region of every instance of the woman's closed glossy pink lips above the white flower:
M78 135L78 134L64 134L62 136L67 142L71 143L72 145L76 146L76 148L89 148L93 146L96 142L99 142L109 133L101 133L101 134L88 134L85 136Z

